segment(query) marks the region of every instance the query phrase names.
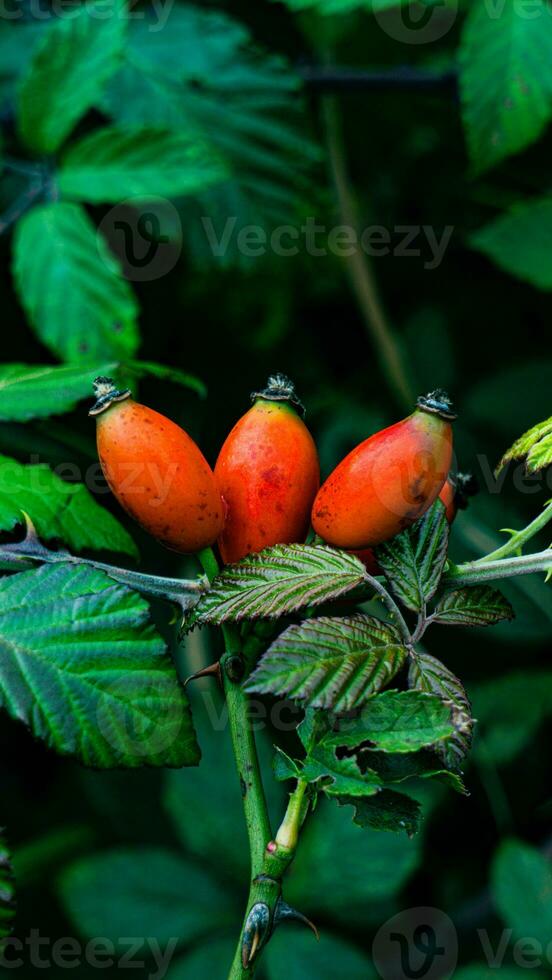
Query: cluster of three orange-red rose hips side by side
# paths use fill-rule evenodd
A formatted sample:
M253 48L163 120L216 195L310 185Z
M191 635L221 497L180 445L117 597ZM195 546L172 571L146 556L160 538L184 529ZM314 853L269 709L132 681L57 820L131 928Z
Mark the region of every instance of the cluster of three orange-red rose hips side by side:
M214 471L180 426L135 402L109 378L94 382L98 454L125 510L162 544L193 553L218 544L225 564L270 545L304 542L312 525L327 544L359 554L416 521L439 496L449 521L462 487L451 476L450 401L441 390L353 449L320 487L314 440L283 375L252 395Z

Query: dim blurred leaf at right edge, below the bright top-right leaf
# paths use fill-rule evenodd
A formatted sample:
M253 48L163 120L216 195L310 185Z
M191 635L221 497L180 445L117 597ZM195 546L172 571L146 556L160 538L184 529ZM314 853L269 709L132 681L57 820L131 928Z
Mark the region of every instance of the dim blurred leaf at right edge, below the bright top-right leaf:
M537 289L552 289L552 197L518 204L469 238L501 269Z

